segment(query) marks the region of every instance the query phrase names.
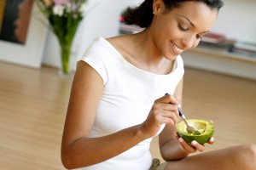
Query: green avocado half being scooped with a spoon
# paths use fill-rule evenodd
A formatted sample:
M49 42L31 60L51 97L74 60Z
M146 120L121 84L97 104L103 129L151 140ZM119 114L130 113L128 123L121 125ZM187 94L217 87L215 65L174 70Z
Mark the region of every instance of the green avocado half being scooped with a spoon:
M188 133L187 125L182 121L176 125L178 135L188 143L191 143L192 140L196 140L200 144L207 143L214 131L213 123L202 119L188 119L187 121L189 125L196 127L201 134Z

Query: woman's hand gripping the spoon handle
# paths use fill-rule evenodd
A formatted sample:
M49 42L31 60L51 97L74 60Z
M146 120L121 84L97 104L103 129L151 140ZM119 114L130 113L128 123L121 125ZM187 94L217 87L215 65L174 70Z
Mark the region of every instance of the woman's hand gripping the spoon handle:
M158 133L162 124L175 126L178 120L177 105L177 98L170 94L156 99L149 111L148 118L142 124L143 133L152 137Z

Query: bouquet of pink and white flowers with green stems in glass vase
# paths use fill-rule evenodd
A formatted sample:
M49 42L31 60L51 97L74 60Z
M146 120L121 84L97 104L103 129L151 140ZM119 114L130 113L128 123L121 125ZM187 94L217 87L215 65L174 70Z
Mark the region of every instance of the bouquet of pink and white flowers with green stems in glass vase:
M61 72L71 72L70 57L73 38L84 17L87 0L35 0L38 8L49 21L61 48Z

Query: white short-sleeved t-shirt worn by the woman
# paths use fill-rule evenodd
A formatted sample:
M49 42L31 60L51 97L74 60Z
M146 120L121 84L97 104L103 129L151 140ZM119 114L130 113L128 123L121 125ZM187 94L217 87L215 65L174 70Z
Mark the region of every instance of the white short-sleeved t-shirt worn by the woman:
M144 122L154 100L166 93L173 94L184 72L180 56L175 60L170 74L157 75L143 71L127 62L102 37L95 39L81 60L93 67L104 83L90 137L105 136ZM152 163L149 151L151 140L152 138L146 139L119 156L83 169L148 170Z

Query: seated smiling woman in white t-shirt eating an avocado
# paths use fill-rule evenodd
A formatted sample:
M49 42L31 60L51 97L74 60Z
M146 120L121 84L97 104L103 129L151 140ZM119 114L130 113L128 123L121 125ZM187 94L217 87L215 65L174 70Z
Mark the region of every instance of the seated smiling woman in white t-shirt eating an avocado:
M79 61L67 109L61 159L83 169L255 169L255 146L203 151L175 133L183 60L212 27L221 0L145 0L128 8L137 34L96 38ZM170 95L165 95L166 93ZM159 134L160 164L149 144ZM209 139L213 143L213 138ZM241 152L242 151L242 152Z

